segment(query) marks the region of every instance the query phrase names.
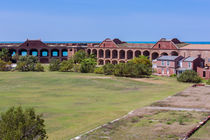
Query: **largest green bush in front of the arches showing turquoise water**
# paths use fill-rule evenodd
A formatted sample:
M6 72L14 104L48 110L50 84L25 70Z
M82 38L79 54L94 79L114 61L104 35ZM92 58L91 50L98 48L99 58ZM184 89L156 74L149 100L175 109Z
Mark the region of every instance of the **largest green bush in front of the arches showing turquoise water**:
M16 69L18 71L36 71L38 58L35 56L20 56L17 62Z

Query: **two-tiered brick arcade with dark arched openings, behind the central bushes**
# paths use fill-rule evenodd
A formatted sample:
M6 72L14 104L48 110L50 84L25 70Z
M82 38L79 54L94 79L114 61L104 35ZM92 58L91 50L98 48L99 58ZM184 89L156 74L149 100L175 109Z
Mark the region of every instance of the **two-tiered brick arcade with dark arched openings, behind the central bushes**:
M128 60L134 57L139 57L140 55L147 56L151 60L155 60L163 55L178 56L177 51L154 51L147 49L102 49L102 48L89 48L87 53L94 54L98 58L98 64L104 65L107 63L118 64L126 63Z

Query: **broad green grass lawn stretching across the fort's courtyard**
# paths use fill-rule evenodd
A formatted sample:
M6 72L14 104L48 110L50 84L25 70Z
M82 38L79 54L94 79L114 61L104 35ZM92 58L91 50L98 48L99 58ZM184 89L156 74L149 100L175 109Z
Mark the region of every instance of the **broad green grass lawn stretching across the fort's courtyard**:
M166 77L144 82L81 73L0 72L0 111L34 107L44 115L49 139L65 140L188 86Z

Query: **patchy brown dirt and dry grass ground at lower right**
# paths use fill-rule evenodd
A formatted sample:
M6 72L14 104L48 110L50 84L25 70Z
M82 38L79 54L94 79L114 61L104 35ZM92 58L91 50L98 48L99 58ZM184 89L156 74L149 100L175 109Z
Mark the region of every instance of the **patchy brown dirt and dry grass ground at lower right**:
M190 87L149 107L137 109L126 118L105 125L81 139L179 140L209 115L210 87ZM209 127L205 126L205 129L204 132L210 132ZM200 139L199 135L196 136L196 140Z

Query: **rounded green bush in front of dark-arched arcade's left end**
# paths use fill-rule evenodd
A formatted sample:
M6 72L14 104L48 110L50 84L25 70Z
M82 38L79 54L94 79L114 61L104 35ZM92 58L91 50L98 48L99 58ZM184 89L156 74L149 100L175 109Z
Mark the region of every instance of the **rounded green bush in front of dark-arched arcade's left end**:
M86 58L81 62L80 71L82 73L92 73L96 67L96 60L93 58Z

